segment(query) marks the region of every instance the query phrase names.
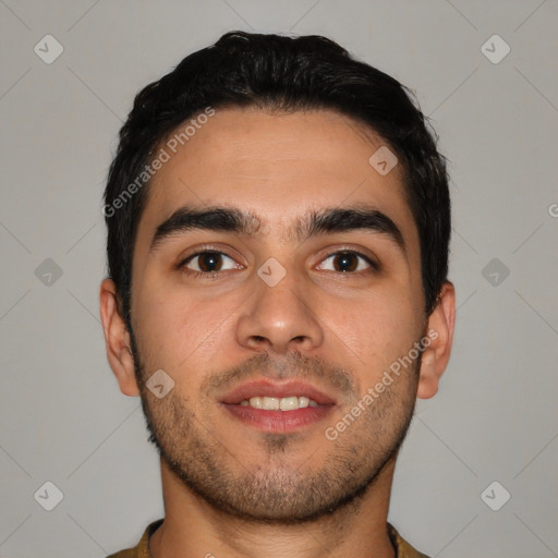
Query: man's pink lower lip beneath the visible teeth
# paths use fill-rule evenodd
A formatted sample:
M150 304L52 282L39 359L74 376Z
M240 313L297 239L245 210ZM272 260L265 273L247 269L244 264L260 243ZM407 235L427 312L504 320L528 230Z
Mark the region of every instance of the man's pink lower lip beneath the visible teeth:
M234 417L266 432L287 433L324 420L335 405L306 407L293 411L266 411L252 407L221 403Z

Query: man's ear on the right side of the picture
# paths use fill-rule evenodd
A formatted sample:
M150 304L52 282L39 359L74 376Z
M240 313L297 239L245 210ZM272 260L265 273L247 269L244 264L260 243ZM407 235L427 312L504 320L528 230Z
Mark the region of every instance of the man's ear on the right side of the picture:
M416 397L429 399L438 391L438 383L448 365L456 326L456 289L446 281L438 302L428 316L426 333L430 344L423 351Z

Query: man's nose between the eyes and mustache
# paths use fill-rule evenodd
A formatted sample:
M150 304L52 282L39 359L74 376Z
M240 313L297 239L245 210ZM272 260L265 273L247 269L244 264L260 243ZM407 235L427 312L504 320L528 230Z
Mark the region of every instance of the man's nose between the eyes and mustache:
M275 286L254 276L254 294L243 305L236 324L238 342L253 351L308 352L324 342L317 317L318 293L288 270Z

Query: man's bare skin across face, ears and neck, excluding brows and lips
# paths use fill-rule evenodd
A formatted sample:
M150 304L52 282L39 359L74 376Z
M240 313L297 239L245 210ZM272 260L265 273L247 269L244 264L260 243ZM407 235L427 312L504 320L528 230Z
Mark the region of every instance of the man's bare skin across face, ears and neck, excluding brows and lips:
M217 110L154 177L133 258L136 351L114 283L106 279L100 289L110 366L124 395L142 397L162 451L166 515L150 539L154 557L395 556L386 521L397 450L416 397L437 392L456 303L446 282L424 315L418 234L401 169L380 175L368 163L381 145L331 111ZM302 243L288 234L311 210L357 203L392 219L404 254L380 233ZM208 204L254 211L259 233L187 231L149 251L175 209ZM217 279L177 269L202 247L232 258L223 257ZM338 270L341 250L376 258L380 271L360 258L359 270ZM256 274L270 257L287 271L272 288ZM428 330L437 337L422 359L328 440L325 428ZM145 388L157 369L174 380L162 399ZM338 404L327 420L287 434L240 423L218 404L231 388L264 376L303 377Z

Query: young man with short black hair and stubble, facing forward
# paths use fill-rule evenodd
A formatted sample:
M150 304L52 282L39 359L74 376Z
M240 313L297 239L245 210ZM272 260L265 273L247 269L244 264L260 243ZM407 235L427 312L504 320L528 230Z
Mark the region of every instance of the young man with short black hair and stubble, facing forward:
M324 37L229 33L138 94L104 213L108 360L165 501L112 556L424 556L387 514L454 290L403 86Z

